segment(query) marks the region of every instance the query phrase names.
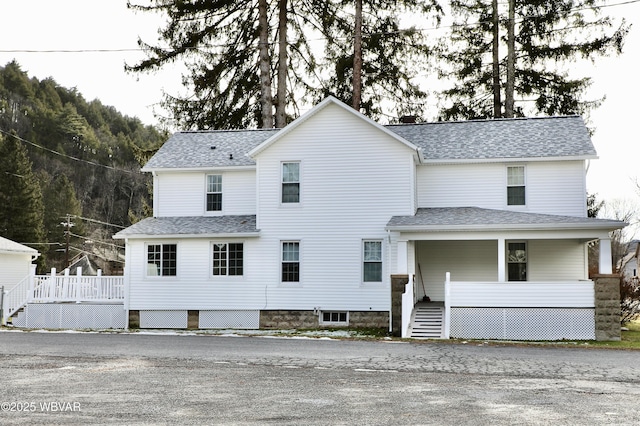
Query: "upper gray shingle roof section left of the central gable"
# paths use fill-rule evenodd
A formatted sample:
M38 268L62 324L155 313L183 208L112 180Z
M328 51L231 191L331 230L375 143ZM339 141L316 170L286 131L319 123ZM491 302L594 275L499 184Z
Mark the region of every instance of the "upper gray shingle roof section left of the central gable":
M278 130L175 133L151 157L143 170L252 166L255 162L246 154Z

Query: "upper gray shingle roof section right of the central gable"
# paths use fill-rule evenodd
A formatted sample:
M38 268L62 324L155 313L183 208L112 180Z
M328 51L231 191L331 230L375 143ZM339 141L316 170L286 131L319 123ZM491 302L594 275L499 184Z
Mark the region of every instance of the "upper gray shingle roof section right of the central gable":
M596 150L578 116L390 125L426 161L588 157Z

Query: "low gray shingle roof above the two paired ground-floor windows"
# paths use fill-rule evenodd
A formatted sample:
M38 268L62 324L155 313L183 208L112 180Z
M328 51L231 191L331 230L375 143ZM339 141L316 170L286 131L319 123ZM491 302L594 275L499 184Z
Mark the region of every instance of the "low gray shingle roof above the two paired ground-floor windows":
M185 238L258 236L255 215L149 217L114 238Z

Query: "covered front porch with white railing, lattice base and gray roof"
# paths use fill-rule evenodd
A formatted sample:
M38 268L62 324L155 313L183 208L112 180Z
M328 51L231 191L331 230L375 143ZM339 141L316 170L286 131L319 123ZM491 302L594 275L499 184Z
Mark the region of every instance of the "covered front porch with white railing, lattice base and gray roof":
M401 335L428 300L444 306L443 338L595 339L587 244L599 241L600 274L611 274L609 232L624 225L478 208L394 217L395 273L408 277Z

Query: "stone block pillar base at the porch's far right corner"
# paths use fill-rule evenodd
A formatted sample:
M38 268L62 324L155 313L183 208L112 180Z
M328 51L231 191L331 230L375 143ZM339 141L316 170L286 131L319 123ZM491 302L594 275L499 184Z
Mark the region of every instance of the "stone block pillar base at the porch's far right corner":
M620 275L594 275L596 340L620 340Z

